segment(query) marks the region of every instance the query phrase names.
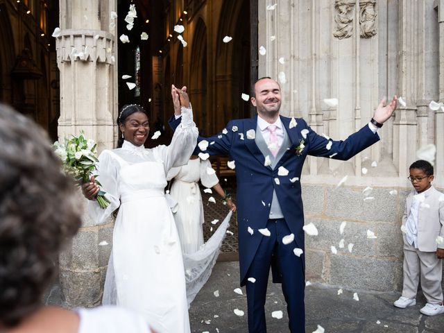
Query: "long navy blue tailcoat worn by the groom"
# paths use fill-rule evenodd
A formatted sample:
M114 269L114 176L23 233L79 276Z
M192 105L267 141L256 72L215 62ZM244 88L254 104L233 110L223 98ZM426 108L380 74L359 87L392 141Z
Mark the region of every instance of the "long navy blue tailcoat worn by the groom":
M207 138L198 137L198 142L206 139L210 143L204 153L229 155L235 161L241 286L246 283L248 268L264 237L257 230L266 228L270 214L268 203L271 203L273 198L273 189L276 191L284 219L295 236L298 248L304 249L304 230L302 230L304 210L300 181L291 182L290 179L300 178L305 157L307 155L329 157L336 153L332 158L348 160L379 141L377 133L373 133L366 125L344 141L330 139L332 146L328 150L326 146L329 140L311 130L304 119L296 119L297 126L293 128L289 128L290 118L280 116L280 119L291 140L291 148L282 156L274 170L264 166L265 157L257 147L255 139L247 138L247 131L257 128L257 116L230 121L226 126L226 134L219 133ZM179 125L180 118L171 117L169 123L174 129ZM237 126L237 131L233 132L233 126ZM303 129L309 130L306 139L301 134ZM244 133L243 140L239 133ZM300 140L304 140L305 148L300 155L297 155L295 148L299 146ZM194 153L197 155L200 152L197 146ZM278 176L278 169L281 166L289 171L288 176ZM279 178L280 185L276 184L275 178ZM253 235L248 232L248 227L254 230ZM280 282L280 274L275 271L277 266L272 264L272 267L273 280Z

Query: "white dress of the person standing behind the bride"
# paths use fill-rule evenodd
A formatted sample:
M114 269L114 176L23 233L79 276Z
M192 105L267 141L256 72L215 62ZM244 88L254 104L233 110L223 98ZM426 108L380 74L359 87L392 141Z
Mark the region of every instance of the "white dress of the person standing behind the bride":
M209 160L196 158L183 167L171 169L167 176L168 180L174 178L170 194L178 202L174 220L182 253L194 253L203 245L203 203L198 182L208 188L219 183L216 174L208 174L207 168L211 168Z

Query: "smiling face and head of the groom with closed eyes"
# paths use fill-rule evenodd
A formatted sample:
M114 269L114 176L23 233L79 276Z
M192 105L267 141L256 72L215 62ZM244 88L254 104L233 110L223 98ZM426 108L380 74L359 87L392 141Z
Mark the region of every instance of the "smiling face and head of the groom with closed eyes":
M280 86L271 78L263 78L255 84L255 96L251 97L259 114L273 116L279 113L281 104Z

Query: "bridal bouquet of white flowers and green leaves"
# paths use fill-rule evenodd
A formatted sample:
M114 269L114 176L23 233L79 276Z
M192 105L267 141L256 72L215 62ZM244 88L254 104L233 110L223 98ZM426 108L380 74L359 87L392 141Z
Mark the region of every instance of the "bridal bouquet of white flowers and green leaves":
M79 183L89 182L89 176L96 170L96 164L99 162L96 157L96 143L92 139L85 139L83 132L80 135L72 135L71 138L65 137L53 144L53 150L60 160L62 160L63 169L66 173L73 176ZM96 183L101 186L100 182ZM96 196L97 203L101 208L110 205L110 201L105 197L104 191L99 191Z

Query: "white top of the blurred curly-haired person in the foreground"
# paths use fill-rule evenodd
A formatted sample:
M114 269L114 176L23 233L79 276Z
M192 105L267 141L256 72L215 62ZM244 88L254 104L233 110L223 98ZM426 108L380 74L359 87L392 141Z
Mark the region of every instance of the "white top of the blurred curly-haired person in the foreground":
M151 333L148 323L127 309L119 307L96 307L75 309L80 317L78 333Z

